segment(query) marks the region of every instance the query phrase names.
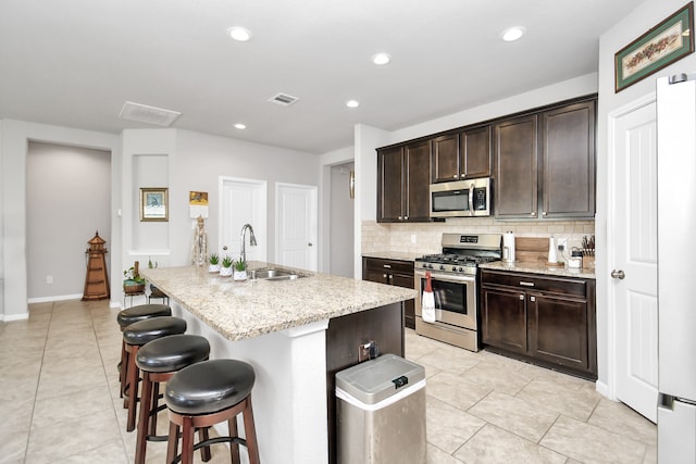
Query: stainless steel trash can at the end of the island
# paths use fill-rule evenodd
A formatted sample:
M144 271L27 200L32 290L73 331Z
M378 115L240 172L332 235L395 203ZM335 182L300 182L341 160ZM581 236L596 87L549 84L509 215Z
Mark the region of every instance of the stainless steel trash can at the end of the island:
M425 369L384 354L336 374L338 464L425 462Z

